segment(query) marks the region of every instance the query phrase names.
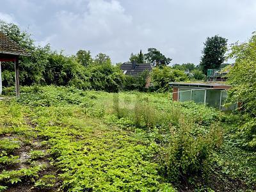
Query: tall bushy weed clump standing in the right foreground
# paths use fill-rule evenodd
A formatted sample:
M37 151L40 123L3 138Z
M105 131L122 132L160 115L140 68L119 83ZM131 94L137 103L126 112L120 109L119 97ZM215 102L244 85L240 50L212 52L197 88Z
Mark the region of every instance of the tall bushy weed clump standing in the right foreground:
M170 180L195 182L207 175L209 159L222 143L220 127L212 125L207 134L195 134L193 124L180 118L179 128L171 127L170 144L161 150L162 173Z

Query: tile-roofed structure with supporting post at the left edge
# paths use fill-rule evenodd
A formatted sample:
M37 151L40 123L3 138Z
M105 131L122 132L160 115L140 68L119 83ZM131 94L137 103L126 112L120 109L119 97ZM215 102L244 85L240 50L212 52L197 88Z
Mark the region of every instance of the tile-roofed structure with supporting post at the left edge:
M1 61L14 62L15 90L16 95L20 95L19 56L29 56L29 54L24 49L22 49L16 42L0 32L0 95L2 92Z

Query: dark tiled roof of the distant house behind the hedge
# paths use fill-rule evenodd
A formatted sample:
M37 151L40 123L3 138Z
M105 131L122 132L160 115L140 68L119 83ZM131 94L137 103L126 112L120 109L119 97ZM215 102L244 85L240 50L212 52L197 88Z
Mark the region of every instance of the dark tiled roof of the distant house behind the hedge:
M149 72L151 72L153 66L149 63L138 63L136 64L136 67L134 68L134 70L132 70L132 63L123 63L120 68L124 72L126 71L125 75L137 76L144 70L148 70Z

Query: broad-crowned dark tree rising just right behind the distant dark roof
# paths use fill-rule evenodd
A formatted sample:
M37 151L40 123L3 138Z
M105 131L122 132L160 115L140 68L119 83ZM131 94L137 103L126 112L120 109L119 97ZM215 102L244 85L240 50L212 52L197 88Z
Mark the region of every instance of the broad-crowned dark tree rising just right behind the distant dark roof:
M166 58L166 56L156 48L148 48L148 52L145 54L145 59L152 63L156 62L157 67L166 66L172 61L171 58Z

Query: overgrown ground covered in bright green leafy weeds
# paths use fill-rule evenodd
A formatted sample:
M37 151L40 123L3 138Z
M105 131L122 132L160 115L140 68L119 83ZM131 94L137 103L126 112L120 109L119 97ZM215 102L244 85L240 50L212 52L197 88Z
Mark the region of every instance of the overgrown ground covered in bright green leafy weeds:
M21 91L0 101L0 191L256 189L236 115L167 93Z

